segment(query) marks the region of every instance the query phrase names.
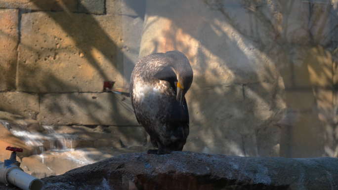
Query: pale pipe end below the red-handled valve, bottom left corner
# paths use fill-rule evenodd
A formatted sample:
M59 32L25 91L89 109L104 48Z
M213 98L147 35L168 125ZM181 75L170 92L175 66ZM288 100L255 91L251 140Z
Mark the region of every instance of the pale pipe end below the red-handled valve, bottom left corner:
M0 162L0 182L19 187L22 190L44 189L44 183L41 179L25 173L18 165L20 165L20 162L10 164Z

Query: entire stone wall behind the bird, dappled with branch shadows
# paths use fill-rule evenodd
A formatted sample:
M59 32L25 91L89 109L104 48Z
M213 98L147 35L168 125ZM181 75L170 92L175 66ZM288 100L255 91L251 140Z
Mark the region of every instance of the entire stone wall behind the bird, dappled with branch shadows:
M337 4L2 0L0 111L142 129L125 96L133 66L179 50L194 70L184 150L337 157Z

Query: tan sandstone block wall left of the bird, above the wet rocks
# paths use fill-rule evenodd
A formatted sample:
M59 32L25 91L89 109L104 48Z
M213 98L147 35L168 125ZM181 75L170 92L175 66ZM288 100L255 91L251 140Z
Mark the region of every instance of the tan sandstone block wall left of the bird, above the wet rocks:
M104 81L125 85L121 1L4 0L0 8L1 111L45 125L138 125L128 99L103 92Z

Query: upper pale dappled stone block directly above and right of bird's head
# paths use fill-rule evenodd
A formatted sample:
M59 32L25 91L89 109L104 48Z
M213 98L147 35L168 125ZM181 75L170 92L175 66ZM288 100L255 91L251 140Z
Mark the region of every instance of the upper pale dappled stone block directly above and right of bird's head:
M192 3L194 9L189 8ZM244 15L243 20L250 20L246 19L252 17L246 11L248 7L234 7L231 18L238 18L240 14ZM264 49L263 44L266 47L275 46L275 34L262 26L264 30L257 33L264 34L264 38L257 35L252 37L249 35L252 30L247 23L249 21L235 25L223 14L224 11L211 8L211 4L202 1L196 4L190 1L173 3L148 0L140 57L155 52L182 51L188 57L194 75L205 76L205 83L222 82L229 85L274 80L268 75L276 72L274 57L267 55L277 50ZM187 9L190 16L186 15ZM255 24L261 26L262 22ZM257 41L257 38L261 40Z

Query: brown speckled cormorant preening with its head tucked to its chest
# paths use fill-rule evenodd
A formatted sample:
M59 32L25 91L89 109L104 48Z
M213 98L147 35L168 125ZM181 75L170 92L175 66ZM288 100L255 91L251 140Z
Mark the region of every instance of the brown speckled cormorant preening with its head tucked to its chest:
M188 58L180 51L141 58L130 77L133 112L157 148L147 153L182 151L189 135L185 94L193 81Z

